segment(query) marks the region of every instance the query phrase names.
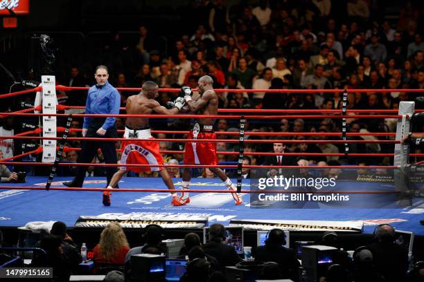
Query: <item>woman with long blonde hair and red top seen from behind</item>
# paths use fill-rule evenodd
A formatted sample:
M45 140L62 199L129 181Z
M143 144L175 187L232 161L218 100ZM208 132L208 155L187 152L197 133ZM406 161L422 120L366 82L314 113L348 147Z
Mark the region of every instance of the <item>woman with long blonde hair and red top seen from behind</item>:
M100 242L94 247L95 272L102 265L124 265L130 250L127 237L119 223L109 223L100 234Z

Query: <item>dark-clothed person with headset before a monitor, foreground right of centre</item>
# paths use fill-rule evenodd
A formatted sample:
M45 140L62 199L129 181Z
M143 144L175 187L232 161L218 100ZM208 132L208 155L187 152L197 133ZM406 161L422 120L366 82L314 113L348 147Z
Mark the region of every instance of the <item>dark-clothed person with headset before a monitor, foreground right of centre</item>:
M272 229L265 240L265 246L254 251L255 261L273 261L278 263L283 279L297 281L297 271L300 263L293 249L284 247L285 234L281 229Z

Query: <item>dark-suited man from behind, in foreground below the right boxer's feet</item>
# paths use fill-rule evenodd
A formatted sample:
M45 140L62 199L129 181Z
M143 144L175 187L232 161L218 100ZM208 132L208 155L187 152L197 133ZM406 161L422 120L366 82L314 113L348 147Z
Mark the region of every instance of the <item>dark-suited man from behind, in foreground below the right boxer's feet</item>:
M203 246L205 254L215 257L222 271L226 266L233 266L242 261L234 247L222 243L224 239L225 227L220 223L215 223L209 227L209 243Z

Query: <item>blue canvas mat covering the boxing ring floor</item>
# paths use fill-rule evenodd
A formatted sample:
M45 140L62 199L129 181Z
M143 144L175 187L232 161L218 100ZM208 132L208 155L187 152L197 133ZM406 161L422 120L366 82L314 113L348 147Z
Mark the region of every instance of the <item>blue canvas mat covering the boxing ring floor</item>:
M55 178L53 187L70 178ZM28 177L24 186L44 187L46 177ZM105 187L105 178L86 178L84 187ZM181 180L174 179L177 189ZM21 184L3 184L23 186ZM123 178L121 188L156 188L166 186L161 178ZM193 189L224 189L222 182L215 178L193 178ZM104 207L98 191L30 191L0 189L0 226L19 227L29 221L62 220L73 226L78 216L100 214L161 213L166 215L187 214L210 216L211 222L224 225L231 219L273 219L273 220L363 220L364 233L372 233L375 225L391 223L396 229L424 235L420 220L424 218L424 201L418 201L407 209L252 209L249 195L244 195L245 204L236 206L231 194L201 193L190 194L191 203L184 207L170 205L169 193L116 192L112 195L112 206Z

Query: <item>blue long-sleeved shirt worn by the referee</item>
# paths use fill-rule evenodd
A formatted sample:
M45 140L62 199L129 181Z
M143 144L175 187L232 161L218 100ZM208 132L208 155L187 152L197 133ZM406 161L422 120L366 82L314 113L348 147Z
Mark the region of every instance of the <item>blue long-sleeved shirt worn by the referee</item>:
M104 115L118 115L121 105L121 95L114 86L106 82L103 86L94 85L89 88L87 102L85 103L85 113L98 113ZM93 118L85 117L83 129L88 129ZM103 129L107 130L114 125L116 118L106 118Z

